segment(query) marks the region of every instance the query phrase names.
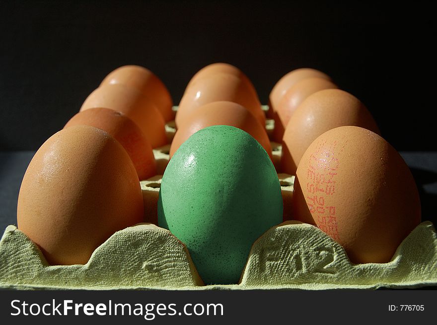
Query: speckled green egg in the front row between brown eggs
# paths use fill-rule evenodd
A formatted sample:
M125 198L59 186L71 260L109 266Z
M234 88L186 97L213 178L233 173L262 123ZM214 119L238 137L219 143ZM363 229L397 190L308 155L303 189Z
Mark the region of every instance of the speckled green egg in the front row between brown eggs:
M187 246L205 284L237 283L253 242L281 223L282 214L269 155L234 127L194 133L162 178L158 224Z

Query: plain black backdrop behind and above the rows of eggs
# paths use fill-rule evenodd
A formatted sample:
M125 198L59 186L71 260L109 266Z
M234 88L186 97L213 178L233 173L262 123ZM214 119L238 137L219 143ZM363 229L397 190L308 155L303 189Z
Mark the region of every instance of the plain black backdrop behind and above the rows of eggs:
M1 1L0 150L38 149L118 66L152 70L176 105L214 62L242 69L263 104L287 72L320 69L397 150L435 150L432 10L331 2Z

